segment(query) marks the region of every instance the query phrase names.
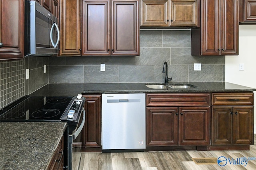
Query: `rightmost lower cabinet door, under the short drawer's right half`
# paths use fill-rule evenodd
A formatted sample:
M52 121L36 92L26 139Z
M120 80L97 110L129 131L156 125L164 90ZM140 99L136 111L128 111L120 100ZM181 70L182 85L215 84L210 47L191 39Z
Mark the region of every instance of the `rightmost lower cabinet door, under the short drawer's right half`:
M233 111L233 144L253 145L253 106L237 106Z

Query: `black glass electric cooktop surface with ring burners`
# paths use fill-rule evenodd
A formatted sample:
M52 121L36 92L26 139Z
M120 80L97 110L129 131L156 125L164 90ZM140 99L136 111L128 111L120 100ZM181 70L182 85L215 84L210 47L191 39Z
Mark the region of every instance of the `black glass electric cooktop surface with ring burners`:
M29 97L0 113L0 121L58 121L73 97Z

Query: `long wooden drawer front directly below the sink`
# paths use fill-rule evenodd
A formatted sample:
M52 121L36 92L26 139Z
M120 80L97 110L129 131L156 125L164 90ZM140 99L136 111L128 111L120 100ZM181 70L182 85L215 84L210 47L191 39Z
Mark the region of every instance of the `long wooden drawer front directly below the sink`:
M146 106L209 106L208 93L146 94Z

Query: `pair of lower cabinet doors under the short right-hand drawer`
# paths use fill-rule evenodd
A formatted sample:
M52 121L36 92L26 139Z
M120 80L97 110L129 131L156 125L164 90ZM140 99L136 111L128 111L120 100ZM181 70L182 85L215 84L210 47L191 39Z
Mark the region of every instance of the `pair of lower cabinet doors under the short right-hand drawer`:
M253 106L213 106L212 145L253 145Z

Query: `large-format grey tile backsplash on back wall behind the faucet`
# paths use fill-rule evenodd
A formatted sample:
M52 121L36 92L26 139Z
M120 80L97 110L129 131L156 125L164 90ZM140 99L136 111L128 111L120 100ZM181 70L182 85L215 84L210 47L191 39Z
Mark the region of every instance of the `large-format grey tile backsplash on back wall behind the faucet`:
M140 56L50 57L49 83L222 82L225 56L192 56L190 30L140 30ZM100 71L100 64L106 71ZM194 63L202 70L194 71Z

